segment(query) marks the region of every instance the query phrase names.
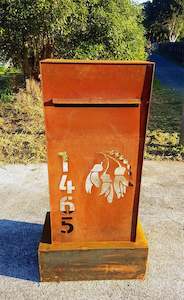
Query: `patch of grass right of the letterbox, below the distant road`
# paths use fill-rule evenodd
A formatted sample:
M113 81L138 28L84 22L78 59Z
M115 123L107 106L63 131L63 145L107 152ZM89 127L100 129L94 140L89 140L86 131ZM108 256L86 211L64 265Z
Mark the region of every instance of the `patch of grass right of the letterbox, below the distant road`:
M184 159L184 146L179 144L183 102L183 95L154 82L145 158Z

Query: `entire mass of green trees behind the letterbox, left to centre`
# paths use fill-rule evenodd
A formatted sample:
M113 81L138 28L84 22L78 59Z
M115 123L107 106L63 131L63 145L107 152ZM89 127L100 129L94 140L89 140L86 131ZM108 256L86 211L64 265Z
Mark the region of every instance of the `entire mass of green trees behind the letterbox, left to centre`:
M144 59L141 9L131 0L1 0L0 49L27 77L48 57Z

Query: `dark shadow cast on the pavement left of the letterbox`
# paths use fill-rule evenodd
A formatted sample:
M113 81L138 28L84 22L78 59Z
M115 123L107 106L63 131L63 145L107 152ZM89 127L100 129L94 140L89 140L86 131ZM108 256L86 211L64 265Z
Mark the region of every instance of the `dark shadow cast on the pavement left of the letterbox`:
M0 275L39 281L37 248L43 226L0 220Z

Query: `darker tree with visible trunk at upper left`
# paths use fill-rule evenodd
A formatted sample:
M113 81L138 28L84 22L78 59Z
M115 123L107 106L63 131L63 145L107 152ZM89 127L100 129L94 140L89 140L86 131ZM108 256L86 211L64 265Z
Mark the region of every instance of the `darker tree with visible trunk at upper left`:
M75 26L82 25L83 1L77 2L78 6L72 0L1 0L0 49L4 58L20 66L27 77L37 77L39 60L54 55L56 34L67 39L70 32L75 33Z

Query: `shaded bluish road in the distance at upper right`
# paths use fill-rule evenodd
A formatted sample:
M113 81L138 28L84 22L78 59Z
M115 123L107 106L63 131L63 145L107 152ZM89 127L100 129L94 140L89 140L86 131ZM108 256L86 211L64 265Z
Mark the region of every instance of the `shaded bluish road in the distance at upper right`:
M152 54L150 60L156 62L156 77L160 82L184 94L184 67L159 54Z

